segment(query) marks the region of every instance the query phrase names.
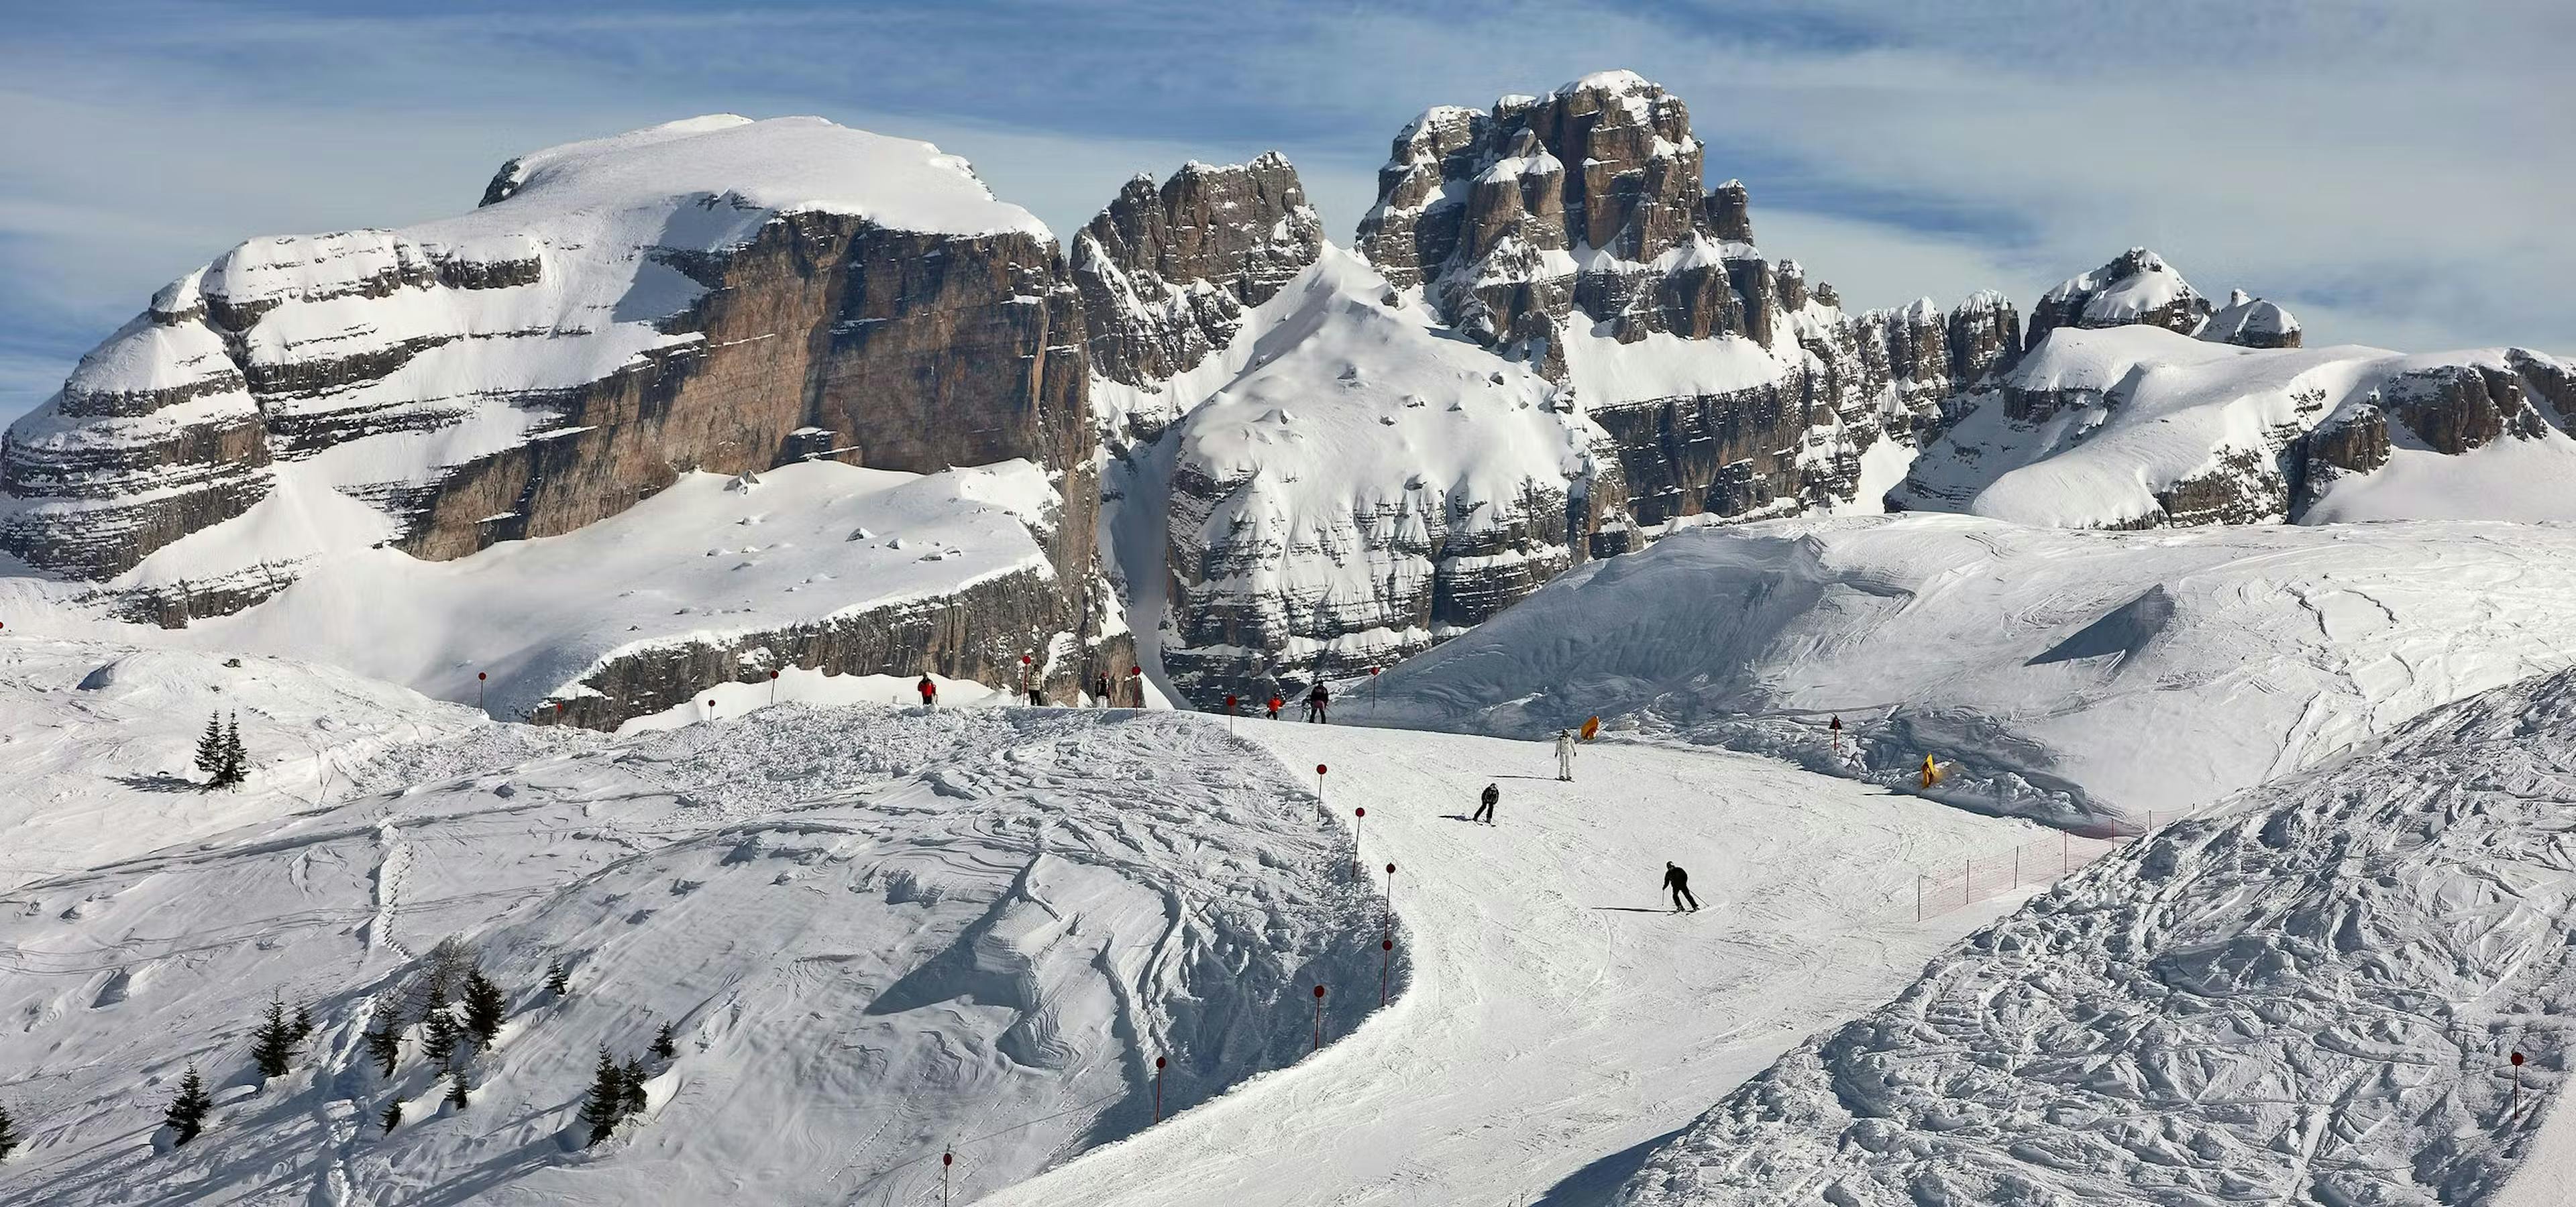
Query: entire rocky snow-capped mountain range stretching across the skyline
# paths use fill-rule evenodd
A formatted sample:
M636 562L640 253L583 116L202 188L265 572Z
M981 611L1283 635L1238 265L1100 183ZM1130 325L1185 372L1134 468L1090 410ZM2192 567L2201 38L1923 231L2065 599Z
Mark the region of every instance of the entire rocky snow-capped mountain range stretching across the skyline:
M1705 522L2566 512L2537 486L2576 458L2563 360L2300 347L2280 304L2215 304L2143 247L2027 322L1994 291L1847 311L1703 170L1687 106L1633 72L1425 111L1355 255L1275 152L1139 175L1061 247L963 160L819 118L531 152L474 214L252 239L160 291L0 443L0 553L52 605L188 625L690 474L1048 481L1043 569L1007 589L842 615L801 584L760 625L677 600L744 620L533 695L618 723L611 697L781 664L1064 697L1141 661L1211 703L1404 659Z

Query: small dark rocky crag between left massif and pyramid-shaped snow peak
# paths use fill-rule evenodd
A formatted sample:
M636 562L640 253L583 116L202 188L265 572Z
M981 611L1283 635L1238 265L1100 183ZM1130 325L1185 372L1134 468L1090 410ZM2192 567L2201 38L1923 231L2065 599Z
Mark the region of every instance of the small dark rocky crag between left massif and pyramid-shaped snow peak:
M1193 162L1162 188L1128 180L1072 247L1092 373L1133 391L1198 368L1234 340L1244 309L1270 301L1321 247L1324 224L1278 152L1231 167ZM1151 438L1175 417L1175 401L1159 399L1110 425Z

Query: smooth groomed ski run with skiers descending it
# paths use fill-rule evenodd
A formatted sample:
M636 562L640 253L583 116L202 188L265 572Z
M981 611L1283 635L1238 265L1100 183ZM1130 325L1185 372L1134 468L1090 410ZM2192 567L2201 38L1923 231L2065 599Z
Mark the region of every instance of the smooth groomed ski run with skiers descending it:
M1368 808L1360 857L1381 880L1396 865L1409 988L1311 1060L976 1202L1592 1202L1705 1099L1999 908L1911 921L1914 865L2038 834L1723 751L1597 744L1561 785L1543 744L1239 728L1332 767L1345 821ZM1463 821L1486 782L1492 829ZM1700 914L1667 911L1667 860ZM1373 1006L1376 981L1329 1001Z

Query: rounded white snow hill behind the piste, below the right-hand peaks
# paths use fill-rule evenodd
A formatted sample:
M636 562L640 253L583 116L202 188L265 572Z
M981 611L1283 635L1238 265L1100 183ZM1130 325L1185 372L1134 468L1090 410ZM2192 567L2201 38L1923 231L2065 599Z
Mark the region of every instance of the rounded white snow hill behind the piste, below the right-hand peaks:
M2576 661L2576 530L2081 533L1976 517L1677 533L1383 674L1409 726L1582 723L1829 759L1958 759L1950 798L2136 824Z

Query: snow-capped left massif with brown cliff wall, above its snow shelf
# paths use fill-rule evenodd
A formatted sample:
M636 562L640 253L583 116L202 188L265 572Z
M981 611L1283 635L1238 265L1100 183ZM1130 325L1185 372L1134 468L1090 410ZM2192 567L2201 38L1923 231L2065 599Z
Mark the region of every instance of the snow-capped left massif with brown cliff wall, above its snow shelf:
M513 160L471 216L173 283L10 427L0 548L185 623L317 556L461 558L690 471L1028 458L1061 492L1041 620L1084 633L1087 342L1054 237L961 160L817 118L657 126Z

